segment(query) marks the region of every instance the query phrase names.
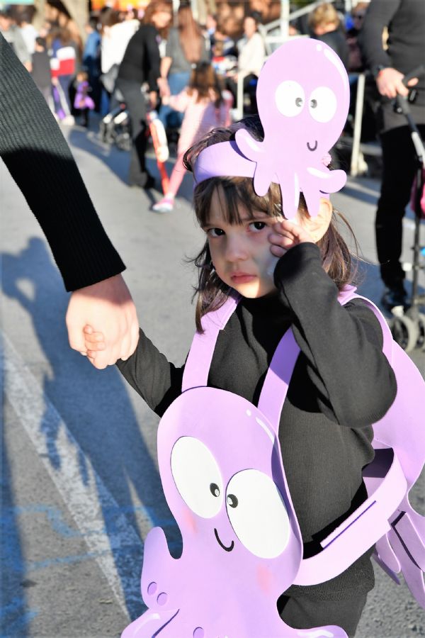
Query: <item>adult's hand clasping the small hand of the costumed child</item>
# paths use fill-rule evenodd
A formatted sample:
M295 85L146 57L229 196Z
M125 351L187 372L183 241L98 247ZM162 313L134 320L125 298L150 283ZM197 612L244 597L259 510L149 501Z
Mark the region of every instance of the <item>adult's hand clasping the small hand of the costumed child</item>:
M103 332L105 348L92 362L99 370L112 366L117 359L128 359L139 340L135 304L120 274L74 291L66 323L69 345L81 354L87 354L84 327L91 325Z

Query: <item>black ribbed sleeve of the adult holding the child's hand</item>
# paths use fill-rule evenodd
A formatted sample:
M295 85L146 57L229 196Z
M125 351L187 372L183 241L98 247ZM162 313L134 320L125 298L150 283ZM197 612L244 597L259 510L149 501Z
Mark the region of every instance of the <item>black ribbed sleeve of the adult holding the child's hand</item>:
M1 33L0 156L40 223L68 291L125 269L50 108Z

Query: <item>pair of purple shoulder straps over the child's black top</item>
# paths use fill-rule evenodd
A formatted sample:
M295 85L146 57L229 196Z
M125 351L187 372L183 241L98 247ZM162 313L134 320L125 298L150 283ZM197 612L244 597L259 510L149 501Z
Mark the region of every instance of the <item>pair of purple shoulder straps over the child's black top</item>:
M189 388L208 384L208 374L218 334L220 330L224 330L238 303L239 297L231 296L221 308L203 316L204 332L203 334L196 332L186 359L182 383L183 392ZM280 412L299 353L300 347L295 342L293 331L287 330L273 354L261 390L258 407L273 425L276 436L279 431Z

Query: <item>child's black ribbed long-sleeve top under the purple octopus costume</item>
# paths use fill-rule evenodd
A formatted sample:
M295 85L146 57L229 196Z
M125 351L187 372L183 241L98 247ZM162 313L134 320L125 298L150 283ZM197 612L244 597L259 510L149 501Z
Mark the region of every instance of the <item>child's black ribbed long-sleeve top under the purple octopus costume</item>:
M208 385L258 403L266 371L290 326L301 348L280 417L280 448L305 557L363 500L362 468L373 459L371 424L397 392L382 354L382 331L361 300L340 306L311 243L289 250L275 271L278 294L240 301L220 332ZM181 393L176 368L140 331L135 354L118 367L158 415ZM247 444L249 444L247 442ZM287 595L350 598L373 587L370 551L344 573Z

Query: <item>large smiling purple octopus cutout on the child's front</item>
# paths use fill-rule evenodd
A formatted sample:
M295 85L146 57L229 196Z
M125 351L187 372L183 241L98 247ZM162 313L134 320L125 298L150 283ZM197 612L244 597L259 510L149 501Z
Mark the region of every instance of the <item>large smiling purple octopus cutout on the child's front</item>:
M155 527L145 541L149 608L122 638L346 637L293 629L276 602L294 581L302 542L273 427L244 398L184 392L158 432L164 493L183 539L179 559Z

